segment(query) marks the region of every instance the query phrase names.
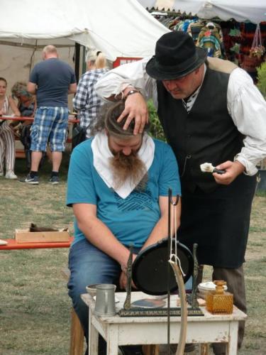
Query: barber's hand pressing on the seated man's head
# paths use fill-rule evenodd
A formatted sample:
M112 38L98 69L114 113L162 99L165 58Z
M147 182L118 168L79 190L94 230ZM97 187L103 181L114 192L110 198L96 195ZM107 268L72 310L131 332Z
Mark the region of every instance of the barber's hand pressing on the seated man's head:
M126 94L125 94L126 96ZM121 116L118 117L118 122L121 122L124 117L127 117L123 129L126 131L129 124L134 119L134 134L143 133L145 124L148 124L148 106L145 99L140 92L135 92L134 94L126 96L125 109L123 110Z

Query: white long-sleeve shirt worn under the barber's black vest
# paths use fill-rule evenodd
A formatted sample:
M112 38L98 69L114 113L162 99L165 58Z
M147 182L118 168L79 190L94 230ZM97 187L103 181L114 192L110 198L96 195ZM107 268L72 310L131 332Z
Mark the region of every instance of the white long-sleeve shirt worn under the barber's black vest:
M149 59L144 58L109 71L97 82L96 93L106 99L133 86L140 90L146 100L153 99L157 108L156 80L149 77L145 70ZM227 108L238 131L245 136L244 146L235 155L235 160L245 166L247 175L255 175L256 165L266 157L266 102L248 73L240 68L233 70L229 77Z

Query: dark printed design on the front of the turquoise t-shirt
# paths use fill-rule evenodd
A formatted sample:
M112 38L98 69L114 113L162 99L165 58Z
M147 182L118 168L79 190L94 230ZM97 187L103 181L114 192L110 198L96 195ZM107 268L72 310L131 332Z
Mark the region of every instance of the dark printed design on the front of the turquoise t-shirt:
M153 208L153 198L150 190L141 192L134 190L126 199L122 199L115 193L115 198L120 211L138 211L140 209Z

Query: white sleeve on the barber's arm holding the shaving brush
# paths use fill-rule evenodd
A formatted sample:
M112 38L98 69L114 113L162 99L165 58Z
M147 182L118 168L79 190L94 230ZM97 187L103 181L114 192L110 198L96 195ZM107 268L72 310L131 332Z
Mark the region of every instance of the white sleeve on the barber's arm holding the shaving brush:
M247 175L257 173L256 165L266 157L266 102L244 70L231 72L227 92L228 112L242 133L244 146L235 155Z

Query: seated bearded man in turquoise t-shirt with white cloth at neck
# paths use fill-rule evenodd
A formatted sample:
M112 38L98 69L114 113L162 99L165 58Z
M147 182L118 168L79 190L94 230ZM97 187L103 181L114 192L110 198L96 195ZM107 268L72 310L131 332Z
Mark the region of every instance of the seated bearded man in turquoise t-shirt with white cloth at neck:
M126 288L128 247L140 249L167 236L168 190L181 195L177 161L170 146L148 134L123 130L124 102L99 118L95 136L71 155L67 206L73 207L69 295L88 334L88 310L80 295L86 286L115 283ZM177 204L179 224L181 202ZM135 354L132 352L131 354Z

